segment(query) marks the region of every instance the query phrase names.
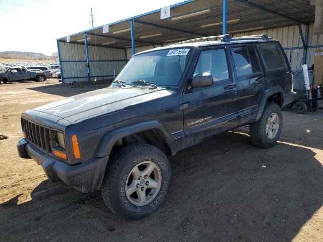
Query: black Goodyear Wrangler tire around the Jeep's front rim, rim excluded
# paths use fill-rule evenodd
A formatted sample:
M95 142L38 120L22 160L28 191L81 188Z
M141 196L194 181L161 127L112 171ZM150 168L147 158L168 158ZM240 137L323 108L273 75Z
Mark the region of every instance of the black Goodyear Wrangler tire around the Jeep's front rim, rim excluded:
M161 173L160 188L155 190L155 194L148 204L138 206L131 202L126 194L126 185L131 171L138 164L143 162L152 162ZM140 170L140 169L139 169ZM146 177L146 176L145 176ZM150 177L148 177L149 179ZM115 214L128 219L139 219L153 213L163 203L167 193L171 178L171 168L165 154L158 148L148 144L131 144L120 149L109 161L103 183L101 185L101 195L105 205ZM147 180L147 177L145 178ZM139 180L139 178L138 178ZM140 183L140 186L144 186ZM137 179L133 179L137 183ZM132 183L131 181L131 183ZM127 184L126 184L127 183ZM144 181L143 184L147 183ZM138 186L137 184L137 186ZM147 188L145 196L151 195ZM137 192L135 192L137 194ZM147 195L148 193L148 195ZM136 195L135 194L135 195ZM132 194L134 195L134 194ZM131 198L130 198L131 199ZM138 196L139 199L139 196Z

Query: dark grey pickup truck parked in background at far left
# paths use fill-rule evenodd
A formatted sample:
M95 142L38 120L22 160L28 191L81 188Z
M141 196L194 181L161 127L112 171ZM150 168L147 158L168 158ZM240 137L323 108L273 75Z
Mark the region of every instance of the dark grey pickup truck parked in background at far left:
M46 77L42 70L30 71L21 67L11 67L8 68L6 72L0 73L0 81L2 81L4 84L7 82L23 80L35 80L37 82L42 82L46 80Z

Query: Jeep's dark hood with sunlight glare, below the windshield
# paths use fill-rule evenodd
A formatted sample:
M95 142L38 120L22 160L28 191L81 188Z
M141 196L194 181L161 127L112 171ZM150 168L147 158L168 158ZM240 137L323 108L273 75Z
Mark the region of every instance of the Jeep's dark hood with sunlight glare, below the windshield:
M117 111L170 94L170 91L160 87L108 87L72 96L34 110L58 116L73 123L90 116Z

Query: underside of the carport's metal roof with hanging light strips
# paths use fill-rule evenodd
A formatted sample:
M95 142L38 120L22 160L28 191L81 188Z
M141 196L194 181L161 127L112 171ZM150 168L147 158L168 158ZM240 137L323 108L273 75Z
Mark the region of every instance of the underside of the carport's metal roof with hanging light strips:
M257 7L260 6L260 7ZM262 8L266 8L265 11ZM204 11L183 19L173 18ZM286 17L288 16L288 17ZM291 26L297 23L312 23L315 6L309 0L233 0L228 1L228 33L243 30L261 30ZM84 33L88 33L88 44L104 47L127 48L131 45L130 31L114 33L130 28L130 20L135 19L135 43L137 46L165 44L172 39L192 39L201 36L219 35L222 32L222 0L187 0L171 6L171 17L160 19L160 9L109 24L109 33L103 34L103 26L70 36L70 41L80 43ZM173 20L172 20L173 19ZM210 27L203 25L214 24ZM147 35L155 37L143 38ZM66 37L58 39L66 41ZM105 45L102 45L104 44ZM109 44L107 44L109 43ZM84 42L81 42L84 44Z

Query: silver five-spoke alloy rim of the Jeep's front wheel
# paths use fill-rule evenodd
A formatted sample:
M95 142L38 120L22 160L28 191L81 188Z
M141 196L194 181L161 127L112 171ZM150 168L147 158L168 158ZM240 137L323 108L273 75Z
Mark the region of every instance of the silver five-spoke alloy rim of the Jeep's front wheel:
M136 206L144 206L157 196L160 187L159 167L151 161L143 161L128 174L125 191L129 202Z

